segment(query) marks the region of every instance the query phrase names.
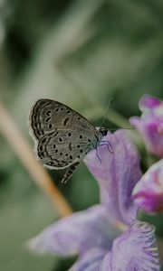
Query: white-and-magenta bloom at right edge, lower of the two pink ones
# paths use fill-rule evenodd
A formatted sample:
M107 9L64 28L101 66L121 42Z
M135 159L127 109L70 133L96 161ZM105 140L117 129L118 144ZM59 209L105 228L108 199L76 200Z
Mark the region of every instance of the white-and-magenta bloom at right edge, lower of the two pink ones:
M163 159L150 166L133 190L133 199L147 212L163 212Z

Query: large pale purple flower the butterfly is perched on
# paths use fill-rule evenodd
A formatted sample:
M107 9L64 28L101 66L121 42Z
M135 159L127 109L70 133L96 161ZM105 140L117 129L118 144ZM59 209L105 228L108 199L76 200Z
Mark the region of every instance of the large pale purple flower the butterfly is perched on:
M158 271L154 228L136 220L131 195L141 175L139 155L122 131L102 141L85 158L100 184L101 204L59 220L28 245L37 252L78 254L71 271Z

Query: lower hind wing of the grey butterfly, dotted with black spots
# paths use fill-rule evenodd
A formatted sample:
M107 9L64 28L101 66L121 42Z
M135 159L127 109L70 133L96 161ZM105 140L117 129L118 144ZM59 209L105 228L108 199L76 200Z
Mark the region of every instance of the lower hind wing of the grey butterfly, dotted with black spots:
M45 166L63 169L80 162L95 145L96 137L83 129L60 129L43 135L37 145L37 154Z

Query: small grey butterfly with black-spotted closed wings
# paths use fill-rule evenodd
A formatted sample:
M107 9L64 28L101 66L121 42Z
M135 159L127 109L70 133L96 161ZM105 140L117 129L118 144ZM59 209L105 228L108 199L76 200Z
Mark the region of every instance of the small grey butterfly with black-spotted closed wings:
M107 133L105 128L97 129L72 108L51 99L34 103L29 123L36 154L43 164L54 169L68 168L64 182Z

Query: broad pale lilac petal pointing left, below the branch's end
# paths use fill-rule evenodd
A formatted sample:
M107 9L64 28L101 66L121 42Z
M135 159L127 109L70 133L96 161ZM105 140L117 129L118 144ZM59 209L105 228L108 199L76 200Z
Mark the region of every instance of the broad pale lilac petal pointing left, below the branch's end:
M30 240L28 247L38 253L69 256L95 247L110 249L118 234L110 225L107 211L97 205L57 221Z

